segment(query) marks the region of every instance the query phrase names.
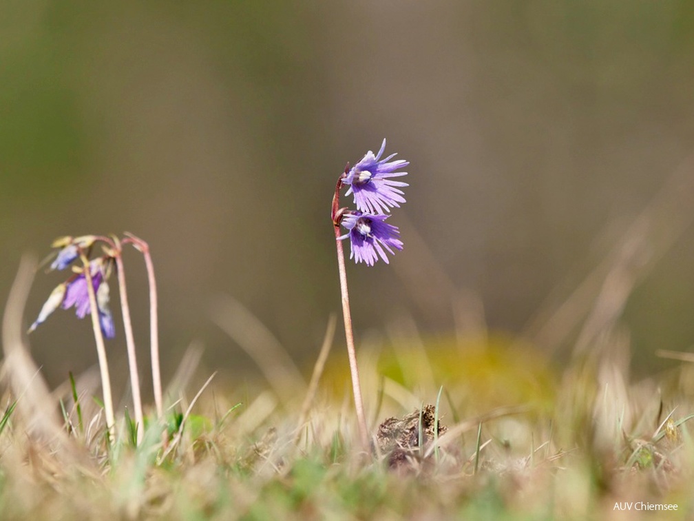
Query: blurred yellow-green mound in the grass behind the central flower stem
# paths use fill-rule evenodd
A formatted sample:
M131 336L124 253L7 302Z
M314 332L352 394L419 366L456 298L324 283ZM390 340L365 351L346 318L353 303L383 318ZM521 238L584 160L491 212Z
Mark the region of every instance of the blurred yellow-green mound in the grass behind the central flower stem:
M349 389L346 354L335 347L323 376L323 386L339 396ZM362 351L363 379L387 379L410 391L425 392L428 401L439 386L455 396L455 407L480 412L498 406L532 404L548 410L555 395L555 374L547 358L533 345L502 333L459 341L430 337L382 347L378 361ZM372 374L370 374L372 373ZM433 379L423 388L423 376ZM423 398L423 397L422 397Z

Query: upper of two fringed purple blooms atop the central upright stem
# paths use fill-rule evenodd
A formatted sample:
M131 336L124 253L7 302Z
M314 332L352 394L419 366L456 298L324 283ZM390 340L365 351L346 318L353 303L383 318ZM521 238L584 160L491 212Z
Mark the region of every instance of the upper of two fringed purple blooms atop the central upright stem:
M396 170L409 165L409 161L398 159L389 163L397 154L381 159L385 148L386 140L383 140L378 154L374 156L371 150L366 152L342 180L344 184L350 185L346 195L354 194L354 203L362 212L386 213L390 208L399 208L400 203L405 202L403 190L398 187L408 186L407 183L392 181L389 178L406 176L407 172Z

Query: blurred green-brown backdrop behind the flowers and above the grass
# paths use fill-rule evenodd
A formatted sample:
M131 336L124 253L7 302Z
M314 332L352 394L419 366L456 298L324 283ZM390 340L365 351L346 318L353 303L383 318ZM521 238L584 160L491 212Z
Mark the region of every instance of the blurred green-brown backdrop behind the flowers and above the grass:
M480 303L491 329L523 335L694 142L686 1L3 0L0 11L0 295L20 256L43 256L58 235L139 235L158 275L164 379L193 340L207 367L250 364L210 320L221 294L312 361L339 311L332 190L384 137L412 163L391 219L405 250L390 266L348 265L358 338L403 317L433 334L474 328ZM650 369L667 366L655 349L694 342L691 226L656 254L623 315ZM125 262L147 367L144 267L134 251ZM27 325L61 280L38 274ZM89 324L71 314L30 338L53 382L96 362ZM122 329L110 349L124 369Z

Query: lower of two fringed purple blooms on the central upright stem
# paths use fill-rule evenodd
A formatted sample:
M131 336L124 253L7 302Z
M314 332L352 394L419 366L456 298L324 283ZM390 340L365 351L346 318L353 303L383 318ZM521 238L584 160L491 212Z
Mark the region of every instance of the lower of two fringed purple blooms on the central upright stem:
M359 211L346 211L342 215L340 224L349 230L340 239L349 237L351 253L356 263L364 262L373 266L378 261L378 256L388 264L386 250L395 254L393 248L403 249L403 242L399 239L400 231L397 226L384 222L390 215L369 214Z

